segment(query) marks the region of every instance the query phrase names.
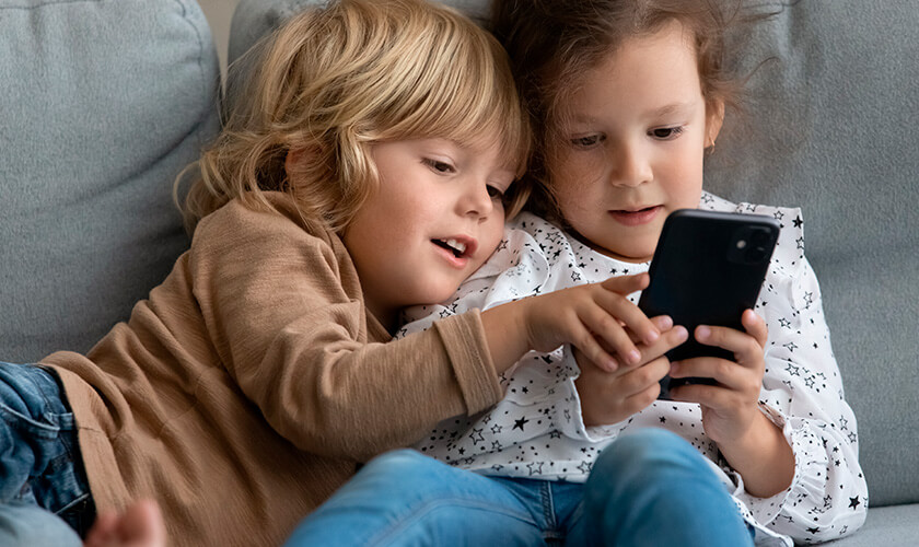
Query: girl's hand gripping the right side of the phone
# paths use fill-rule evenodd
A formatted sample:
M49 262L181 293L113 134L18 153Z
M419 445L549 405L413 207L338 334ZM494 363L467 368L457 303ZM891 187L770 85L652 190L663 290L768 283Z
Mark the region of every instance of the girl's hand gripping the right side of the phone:
M719 443L746 435L760 415L759 391L766 370L764 348L768 335L766 322L753 310L741 316L745 333L728 327L700 325L695 337L700 344L734 353L734 361L698 357L671 364L672 377L710 377L717 385L690 384L676 387L674 400L698 403L702 409L706 434Z

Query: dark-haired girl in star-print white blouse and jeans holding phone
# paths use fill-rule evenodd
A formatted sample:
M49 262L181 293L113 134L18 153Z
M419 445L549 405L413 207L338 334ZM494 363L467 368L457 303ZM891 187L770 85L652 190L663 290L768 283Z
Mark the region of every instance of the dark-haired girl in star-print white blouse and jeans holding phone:
M705 155L736 94L718 3L497 0L493 23L536 127L534 205L556 224L517 217L457 295L412 311L427 317L403 333L643 275L680 208L782 223L756 310L744 312L744 331L693 333L733 362L670 363L648 347L638 365L569 347L528 353L502 374L498 405L445 420L417 444L437 461L408 451L375 459L290 544L341 534L339 545L791 545L856 531L868 503L856 420L801 213L702 190ZM667 374L717 385L655 400Z

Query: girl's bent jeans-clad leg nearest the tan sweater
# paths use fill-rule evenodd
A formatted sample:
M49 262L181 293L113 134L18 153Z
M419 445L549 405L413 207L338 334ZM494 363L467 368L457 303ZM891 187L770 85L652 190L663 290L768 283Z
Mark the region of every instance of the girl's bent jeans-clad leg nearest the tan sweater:
M400 450L370 462L286 547L540 544L527 504L499 481Z

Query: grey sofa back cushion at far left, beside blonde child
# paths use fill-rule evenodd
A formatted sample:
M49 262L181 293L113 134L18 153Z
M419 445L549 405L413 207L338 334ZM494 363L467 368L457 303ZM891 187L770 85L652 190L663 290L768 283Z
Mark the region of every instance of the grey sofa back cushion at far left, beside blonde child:
M88 350L165 277L218 84L193 0L0 0L3 360Z

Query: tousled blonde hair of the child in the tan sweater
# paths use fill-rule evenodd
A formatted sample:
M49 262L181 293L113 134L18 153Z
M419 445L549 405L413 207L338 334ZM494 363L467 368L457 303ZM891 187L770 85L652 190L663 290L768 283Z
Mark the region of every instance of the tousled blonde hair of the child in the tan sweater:
M380 141L492 142L517 176L525 171L531 130L507 53L453 9L331 2L253 48L231 67L231 82L240 67L252 70L231 86L222 131L187 168L196 176L183 207L189 232L232 199L271 208L265 191L286 193L307 225L341 231L379 185L370 146ZM309 161L288 172L292 151ZM526 183L511 187L509 217L528 194Z

